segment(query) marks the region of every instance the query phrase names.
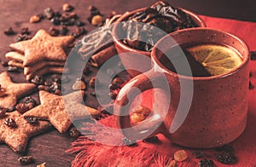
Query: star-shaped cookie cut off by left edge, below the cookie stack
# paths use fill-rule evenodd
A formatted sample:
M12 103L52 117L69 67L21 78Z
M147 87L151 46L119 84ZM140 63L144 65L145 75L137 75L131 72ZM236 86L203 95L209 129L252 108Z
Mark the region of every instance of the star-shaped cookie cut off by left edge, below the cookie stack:
M5 89L5 93L0 96L0 108L12 110L17 100L25 95L32 93L36 89L33 83L13 83L7 72L0 74L1 88Z

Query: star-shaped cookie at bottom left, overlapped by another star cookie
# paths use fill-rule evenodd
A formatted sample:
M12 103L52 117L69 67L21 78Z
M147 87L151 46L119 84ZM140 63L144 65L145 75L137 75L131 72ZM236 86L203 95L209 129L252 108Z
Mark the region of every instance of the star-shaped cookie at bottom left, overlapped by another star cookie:
M4 124L7 118L15 120L16 127L11 128ZM37 124L28 124L20 112L8 112L6 117L0 118L0 143L6 143L16 153L26 150L27 141L33 135L38 135L51 127L48 121L38 121Z

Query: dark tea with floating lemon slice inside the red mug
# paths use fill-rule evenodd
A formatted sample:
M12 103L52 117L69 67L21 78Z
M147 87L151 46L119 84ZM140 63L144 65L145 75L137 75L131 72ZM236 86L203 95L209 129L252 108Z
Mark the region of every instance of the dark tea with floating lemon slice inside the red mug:
M209 77L221 75L230 72L232 69L241 65L241 55L236 49L230 46L220 44L199 44L183 48L183 52L175 52L175 49L169 49L167 55L160 61L172 72L177 72L173 66L184 66L183 58L181 55L186 56L193 77ZM178 54L177 54L178 53ZM172 55L170 57L170 55ZM172 61L172 62L171 62ZM187 68L179 69L177 72L181 75L191 76L191 72Z

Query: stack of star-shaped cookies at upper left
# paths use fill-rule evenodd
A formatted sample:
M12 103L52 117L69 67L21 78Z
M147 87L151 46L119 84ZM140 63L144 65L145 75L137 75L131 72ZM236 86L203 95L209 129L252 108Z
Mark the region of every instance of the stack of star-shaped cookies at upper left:
M27 80L48 72L68 72L64 68L66 52L73 41L73 36L51 37L44 30L39 30L32 39L10 44L14 51L5 56L9 59L9 66L24 68Z

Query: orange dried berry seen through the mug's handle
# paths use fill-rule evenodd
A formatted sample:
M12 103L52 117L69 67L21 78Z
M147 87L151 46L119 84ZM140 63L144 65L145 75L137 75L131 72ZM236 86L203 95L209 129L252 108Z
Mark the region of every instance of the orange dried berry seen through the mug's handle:
M131 113L131 122L139 123L145 120L148 115L151 113L151 110L147 107L138 107L134 112Z

